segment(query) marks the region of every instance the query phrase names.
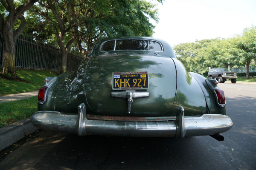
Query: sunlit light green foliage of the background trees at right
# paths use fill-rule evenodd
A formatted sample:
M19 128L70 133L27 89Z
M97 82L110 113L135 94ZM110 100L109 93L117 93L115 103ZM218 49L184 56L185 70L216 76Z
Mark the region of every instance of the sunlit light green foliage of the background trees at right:
M177 58L188 71L204 74L208 68L237 68L256 59L256 27L241 36L215 38L175 45Z

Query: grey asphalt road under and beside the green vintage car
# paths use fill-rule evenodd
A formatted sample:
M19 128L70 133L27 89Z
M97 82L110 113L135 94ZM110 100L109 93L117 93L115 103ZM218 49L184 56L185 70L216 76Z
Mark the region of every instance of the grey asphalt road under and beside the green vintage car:
M219 87L233 120L232 129L222 133L223 142L210 136L79 137L44 131L5 150L11 153L0 170L256 170L256 85L225 82Z

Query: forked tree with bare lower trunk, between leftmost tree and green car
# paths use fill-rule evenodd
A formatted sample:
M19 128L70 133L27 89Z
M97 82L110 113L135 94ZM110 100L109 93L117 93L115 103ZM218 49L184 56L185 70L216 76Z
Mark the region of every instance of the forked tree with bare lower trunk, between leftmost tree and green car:
M44 19L38 28L56 36L61 50L61 73L64 73L67 71L68 51L77 36L78 11L83 3L76 0L39 0L38 3L40 6L35 6L33 11ZM73 36L67 36L69 31L73 31Z

